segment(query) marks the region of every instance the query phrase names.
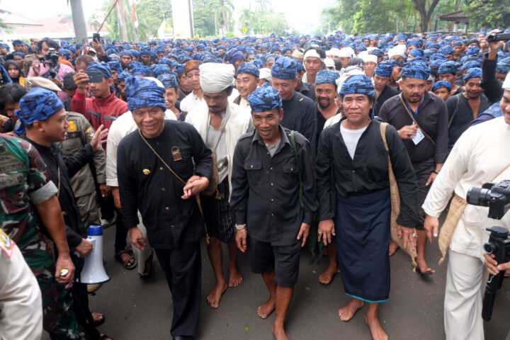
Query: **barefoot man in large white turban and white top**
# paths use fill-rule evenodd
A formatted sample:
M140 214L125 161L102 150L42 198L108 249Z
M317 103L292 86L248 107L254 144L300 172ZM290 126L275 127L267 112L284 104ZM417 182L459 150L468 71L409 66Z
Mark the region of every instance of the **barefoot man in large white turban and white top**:
M216 276L216 286L207 300L211 308L217 308L227 287L236 287L242 282L237 269L238 250L229 196L235 145L239 137L254 128L249 111L228 100L234 85L232 64L205 63L199 69L200 86L207 106L198 106L190 111L186 122L198 130L205 145L215 154L217 187L212 188L209 195L202 194L201 201L210 236L208 255ZM229 246L228 283L223 276L221 242Z

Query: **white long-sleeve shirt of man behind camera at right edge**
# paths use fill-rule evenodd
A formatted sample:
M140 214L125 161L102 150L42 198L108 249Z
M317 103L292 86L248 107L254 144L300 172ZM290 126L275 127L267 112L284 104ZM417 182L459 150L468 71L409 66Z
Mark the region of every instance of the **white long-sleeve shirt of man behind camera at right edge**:
M504 117L467 129L455 143L431 186L423 205L426 214L439 217L453 191L465 199L469 188L510 179L510 168L497 176L509 164L510 125L505 123ZM485 228L493 225L510 227L510 213L502 220L492 220L487 217L488 212L487 207L468 204L453 233L450 249L483 261L483 244L489 239Z

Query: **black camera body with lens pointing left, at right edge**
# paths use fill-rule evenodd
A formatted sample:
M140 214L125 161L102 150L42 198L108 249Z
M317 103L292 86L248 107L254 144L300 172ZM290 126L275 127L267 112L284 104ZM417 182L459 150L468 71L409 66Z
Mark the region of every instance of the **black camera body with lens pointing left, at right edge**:
M467 191L467 203L489 207L489 217L501 220L510 208L510 181L485 183Z

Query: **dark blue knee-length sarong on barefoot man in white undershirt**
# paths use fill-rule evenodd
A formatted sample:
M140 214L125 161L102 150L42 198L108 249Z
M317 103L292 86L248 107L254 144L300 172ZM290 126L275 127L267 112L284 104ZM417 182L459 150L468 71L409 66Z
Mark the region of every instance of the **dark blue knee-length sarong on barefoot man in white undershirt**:
M336 251L346 294L367 302L390 295L390 189L336 198Z

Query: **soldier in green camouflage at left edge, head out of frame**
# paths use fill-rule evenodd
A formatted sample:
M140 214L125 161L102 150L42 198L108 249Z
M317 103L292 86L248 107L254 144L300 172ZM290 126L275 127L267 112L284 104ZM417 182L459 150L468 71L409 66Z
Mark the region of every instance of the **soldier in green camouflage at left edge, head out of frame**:
M43 327L52 339L85 339L67 289L74 278L74 265L55 196L57 188L30 143L0 135L0 159L0 227L18 244L38 280ZM64 269L67 276L61 276Z

